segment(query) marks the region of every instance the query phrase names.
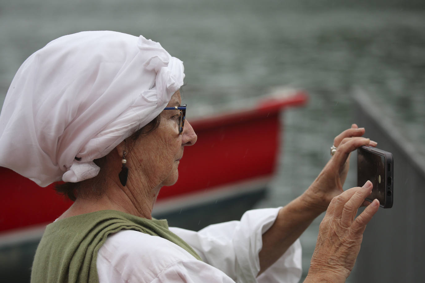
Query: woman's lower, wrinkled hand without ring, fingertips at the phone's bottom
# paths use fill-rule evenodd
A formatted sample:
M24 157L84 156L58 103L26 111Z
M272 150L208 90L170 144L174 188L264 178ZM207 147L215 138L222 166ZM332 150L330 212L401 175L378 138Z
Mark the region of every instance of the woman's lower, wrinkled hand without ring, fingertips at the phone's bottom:
M378 211L375 199L356 218L357 209L370 195L372 183L351 188L335 196L320 223L316 248L310 263L307 282L345 282L353 269L366 224Z

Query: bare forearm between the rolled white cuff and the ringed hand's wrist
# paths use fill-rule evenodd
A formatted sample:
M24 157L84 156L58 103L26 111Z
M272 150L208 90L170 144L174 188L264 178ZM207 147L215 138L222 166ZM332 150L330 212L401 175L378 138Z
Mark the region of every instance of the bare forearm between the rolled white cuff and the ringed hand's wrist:
M309 191L280 209L272 227L263 234L258 275L275 263L322 212L311 205Z

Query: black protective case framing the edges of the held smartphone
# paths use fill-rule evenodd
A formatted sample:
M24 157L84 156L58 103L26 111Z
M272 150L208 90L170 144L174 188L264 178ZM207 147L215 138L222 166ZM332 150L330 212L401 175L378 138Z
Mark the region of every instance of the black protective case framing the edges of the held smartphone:
M357 149L357 158L359 156L359 152L366 151L366 154L379 154L380 156L383 156L385 158L385 202L382 204L380 203L380 207L383 208L391 208L393 206L393 199L394 199L394 159L393 154L388 151L384 151L382 149L377 149L371 146L361 146L359 149ZM358 163L357 159L357 163ZM358 168L358 164L357 164ZM359 172L357 169L357 186L361 187L364 184L360 184L359 180ZM373 190L373 189L372 189ZM366 198L366 200L372 202L373 199Z

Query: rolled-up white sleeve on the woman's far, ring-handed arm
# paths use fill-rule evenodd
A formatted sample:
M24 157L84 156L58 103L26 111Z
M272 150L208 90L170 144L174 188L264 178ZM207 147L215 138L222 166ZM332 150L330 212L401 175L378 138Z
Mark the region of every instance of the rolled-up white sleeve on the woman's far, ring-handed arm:
M272 226L280 208L249 210L240 221L213 224L199 232L176 227L170 230L193 247L204 262L238 283L297 283L302 273L299 240L257 277L262 235Z

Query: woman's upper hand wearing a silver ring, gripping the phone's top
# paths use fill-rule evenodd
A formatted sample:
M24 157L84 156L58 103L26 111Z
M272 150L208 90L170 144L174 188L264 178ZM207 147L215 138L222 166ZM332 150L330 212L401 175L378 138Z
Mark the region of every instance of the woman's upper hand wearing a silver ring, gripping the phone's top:
M350 167L351 151L365 145L377 146L373 140L362 137L364 133L364 128L352 124L350 129L335 137L334 146L337 151L305 192L310 207L323 212L328 208L331 199L343 192Z

